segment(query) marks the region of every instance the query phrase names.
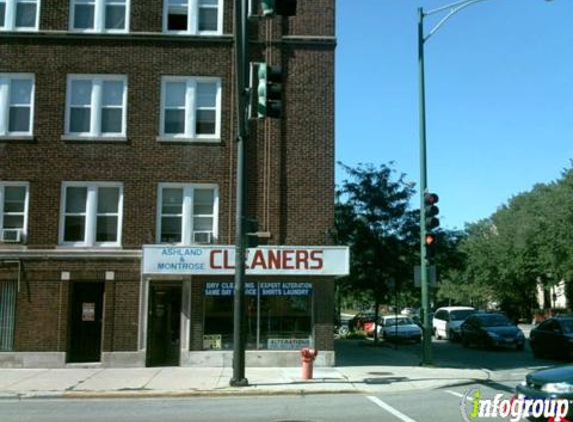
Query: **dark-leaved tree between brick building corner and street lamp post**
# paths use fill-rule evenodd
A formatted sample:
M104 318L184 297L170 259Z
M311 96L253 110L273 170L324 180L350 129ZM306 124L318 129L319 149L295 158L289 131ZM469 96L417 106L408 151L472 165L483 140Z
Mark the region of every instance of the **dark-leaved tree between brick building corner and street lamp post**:
M348 178L337 191L335 235L350 246L351 257L350 275L340 281L339 291L367 292L377 318L379 304L389 302L394 288L411 288L419 233L419 213L409 208L414 184L392 163L339 165Z

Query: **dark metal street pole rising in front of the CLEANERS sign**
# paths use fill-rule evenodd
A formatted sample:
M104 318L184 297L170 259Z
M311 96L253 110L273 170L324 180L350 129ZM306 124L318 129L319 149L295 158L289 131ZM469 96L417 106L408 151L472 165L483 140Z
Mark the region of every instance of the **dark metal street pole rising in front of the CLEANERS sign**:
M237 188L235 215L235 285L233 315L233 377L229 384L233 387L249 385L245 378L245 201L246 166L245 144L247 142L247 100L248 92L248 40L247 40L247 0L235 0L235 75L237 99Z

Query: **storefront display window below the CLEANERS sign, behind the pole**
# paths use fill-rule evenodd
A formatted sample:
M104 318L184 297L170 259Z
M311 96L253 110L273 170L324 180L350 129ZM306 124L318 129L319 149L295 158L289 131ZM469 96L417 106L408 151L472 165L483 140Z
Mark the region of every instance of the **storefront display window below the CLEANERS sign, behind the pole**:
M246 283L247 349L299 350L312 337L311 283ZM204 349L233 348L233 283L205 286Z

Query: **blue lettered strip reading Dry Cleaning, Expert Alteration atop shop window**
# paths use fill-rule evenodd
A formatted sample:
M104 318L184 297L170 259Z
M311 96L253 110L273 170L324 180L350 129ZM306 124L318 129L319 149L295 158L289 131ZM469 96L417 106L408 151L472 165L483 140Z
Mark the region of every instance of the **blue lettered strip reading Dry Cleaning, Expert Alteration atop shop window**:
M257 291L258 290L258 291ZM233 296L234 283L206 283L205 296ZM310 296L311 283L245 283L247 296Z

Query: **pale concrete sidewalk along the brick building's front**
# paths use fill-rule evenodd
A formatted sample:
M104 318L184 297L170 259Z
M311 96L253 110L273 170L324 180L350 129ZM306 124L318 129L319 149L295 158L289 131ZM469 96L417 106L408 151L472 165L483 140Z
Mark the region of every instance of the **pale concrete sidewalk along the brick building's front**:
M484 370L396 365L391 349L376 350L381 365L315 368L302 380L300 368L246 368L248 387L230 387L232 368L0 369L0 398L121 398L224 395L328 394L410 391L486 381Z

